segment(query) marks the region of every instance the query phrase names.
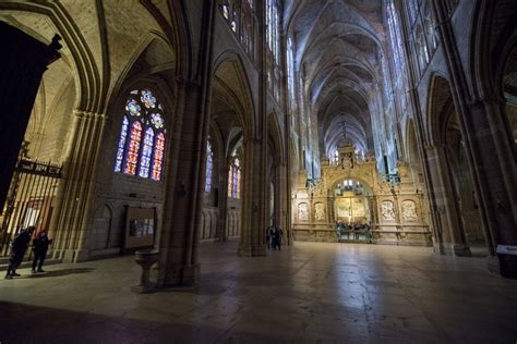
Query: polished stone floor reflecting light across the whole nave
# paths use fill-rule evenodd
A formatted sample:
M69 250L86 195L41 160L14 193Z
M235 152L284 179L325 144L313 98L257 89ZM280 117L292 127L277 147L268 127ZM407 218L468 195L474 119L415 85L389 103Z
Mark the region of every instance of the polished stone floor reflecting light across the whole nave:
M139 295L131 257L0 280L0 343L516 343L517 281L430 248L202 244L195 292Z

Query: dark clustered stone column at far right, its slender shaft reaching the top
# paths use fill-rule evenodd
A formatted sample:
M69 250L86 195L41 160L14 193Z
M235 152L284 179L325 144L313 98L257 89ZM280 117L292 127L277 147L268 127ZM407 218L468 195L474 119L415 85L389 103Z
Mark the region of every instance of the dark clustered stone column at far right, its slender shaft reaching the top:
M482 225L490 233L486 235L491 254L489 269L504 277L517 277L517 256L494 256L498 245L517 246L517 152L503 118L504 99L491 81L474 79L476 89L469 88L444 2L433 1L433 11L440 23L437 29L452 75L453 97L459 109L474 191L482 205L479 208Z

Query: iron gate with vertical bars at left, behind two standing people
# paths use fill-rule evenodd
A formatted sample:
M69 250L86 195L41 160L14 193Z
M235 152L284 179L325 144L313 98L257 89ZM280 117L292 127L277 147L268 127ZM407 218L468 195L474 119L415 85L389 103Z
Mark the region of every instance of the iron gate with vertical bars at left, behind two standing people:
M48 230L61 167L22 158L16 163L2 212L0 256L9 251L11 238L29 225Z

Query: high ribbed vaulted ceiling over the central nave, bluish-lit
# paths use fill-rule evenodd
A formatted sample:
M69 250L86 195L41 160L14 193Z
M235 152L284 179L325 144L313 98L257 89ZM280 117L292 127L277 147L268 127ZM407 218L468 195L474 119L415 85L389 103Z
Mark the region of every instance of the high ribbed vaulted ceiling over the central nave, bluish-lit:
M322 153L345 138L373 149L372 95L383 56L382 0L286 0L285 29L294 47Z

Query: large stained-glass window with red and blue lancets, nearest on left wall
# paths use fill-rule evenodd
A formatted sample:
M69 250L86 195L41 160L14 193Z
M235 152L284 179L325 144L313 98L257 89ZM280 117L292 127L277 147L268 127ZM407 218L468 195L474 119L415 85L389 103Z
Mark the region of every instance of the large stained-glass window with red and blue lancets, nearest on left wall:
M131 91L122 116L115 172L160 181L166 132L164 108L153 93Z

